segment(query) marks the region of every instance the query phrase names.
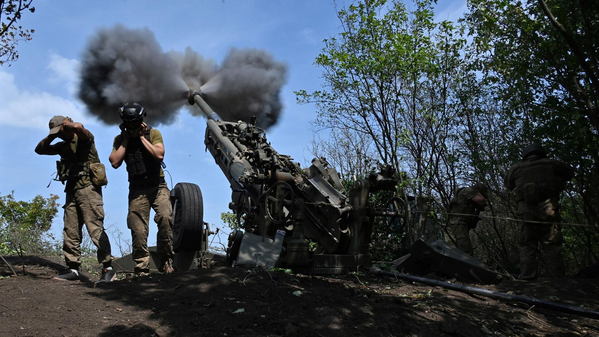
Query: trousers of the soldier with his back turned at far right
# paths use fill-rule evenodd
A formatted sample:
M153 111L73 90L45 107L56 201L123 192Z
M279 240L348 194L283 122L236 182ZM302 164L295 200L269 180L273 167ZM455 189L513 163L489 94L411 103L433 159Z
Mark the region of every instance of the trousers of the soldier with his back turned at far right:
M539 269L537 252L539 243L545 252L545 266L550 277L565 275L561 255L562 233L558 224L536 224L526 221L559 222L558 210L528 212L518 215L518 250L520 252L520 278L536 279Z

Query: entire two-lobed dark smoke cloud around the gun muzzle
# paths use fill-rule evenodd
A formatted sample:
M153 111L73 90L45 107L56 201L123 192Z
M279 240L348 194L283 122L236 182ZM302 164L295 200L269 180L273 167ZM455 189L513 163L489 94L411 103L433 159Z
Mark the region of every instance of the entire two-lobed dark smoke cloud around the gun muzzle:
M135 101L148 112L149 124L171 124L181 107L193 115L199 108L183 98L200 89L225 121L249 121L268 128L276 124L282 105L280 88L286 67L258 49L231 49L221 65L187 47L164 52L147 28L115 26L99 29L83 54L79 97L106 124L120 124L118 108Z

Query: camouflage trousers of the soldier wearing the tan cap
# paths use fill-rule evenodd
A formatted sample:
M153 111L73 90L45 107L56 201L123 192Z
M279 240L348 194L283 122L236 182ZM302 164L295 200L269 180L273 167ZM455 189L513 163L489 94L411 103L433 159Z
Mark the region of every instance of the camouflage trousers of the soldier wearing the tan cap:
M98 248L98 262L109 266L113 257L110 254L110 240L104 231L102 189L89 185L68 191L62 208L65 209L62 250L66 265L71 269L78 269L81 265L81 239L85 224L87 233Z

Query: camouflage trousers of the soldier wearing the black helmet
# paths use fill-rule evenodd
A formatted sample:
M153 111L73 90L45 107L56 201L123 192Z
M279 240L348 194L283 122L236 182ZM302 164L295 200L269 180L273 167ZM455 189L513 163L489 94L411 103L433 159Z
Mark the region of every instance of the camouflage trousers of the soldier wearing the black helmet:
M131 230L135 273L147 273L150 270L150 252L147 244L150 207L156 212L154 222L158 225L156 236L158 270L161 270L164 263L173 257L173 209L167 183L154 187L130 188L127 227Z

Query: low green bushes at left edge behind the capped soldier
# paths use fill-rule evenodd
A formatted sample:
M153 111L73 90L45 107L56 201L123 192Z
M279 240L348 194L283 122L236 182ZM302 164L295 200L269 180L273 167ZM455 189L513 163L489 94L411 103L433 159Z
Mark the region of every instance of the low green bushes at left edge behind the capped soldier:
M17 201L14 191L0 195L0 254L19 245L29 253L55 251L55 239L47 232L58 213L58 195Z

